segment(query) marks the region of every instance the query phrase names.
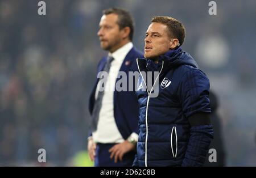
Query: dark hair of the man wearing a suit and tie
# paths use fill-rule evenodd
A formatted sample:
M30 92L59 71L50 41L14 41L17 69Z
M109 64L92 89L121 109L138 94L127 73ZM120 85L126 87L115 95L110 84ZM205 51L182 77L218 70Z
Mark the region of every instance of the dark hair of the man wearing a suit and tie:
M103 15L108 15L108 14L117 14L118 15L118 20L117 24L119 26L119 29L123 29L125 27L130 27L130 34L129 34L129 39L132 41L133 40L133 32L134 32L134 20L130 15L130 12L128 12L125 9L121 8L110 8L110 9L105 9L102 11Z

